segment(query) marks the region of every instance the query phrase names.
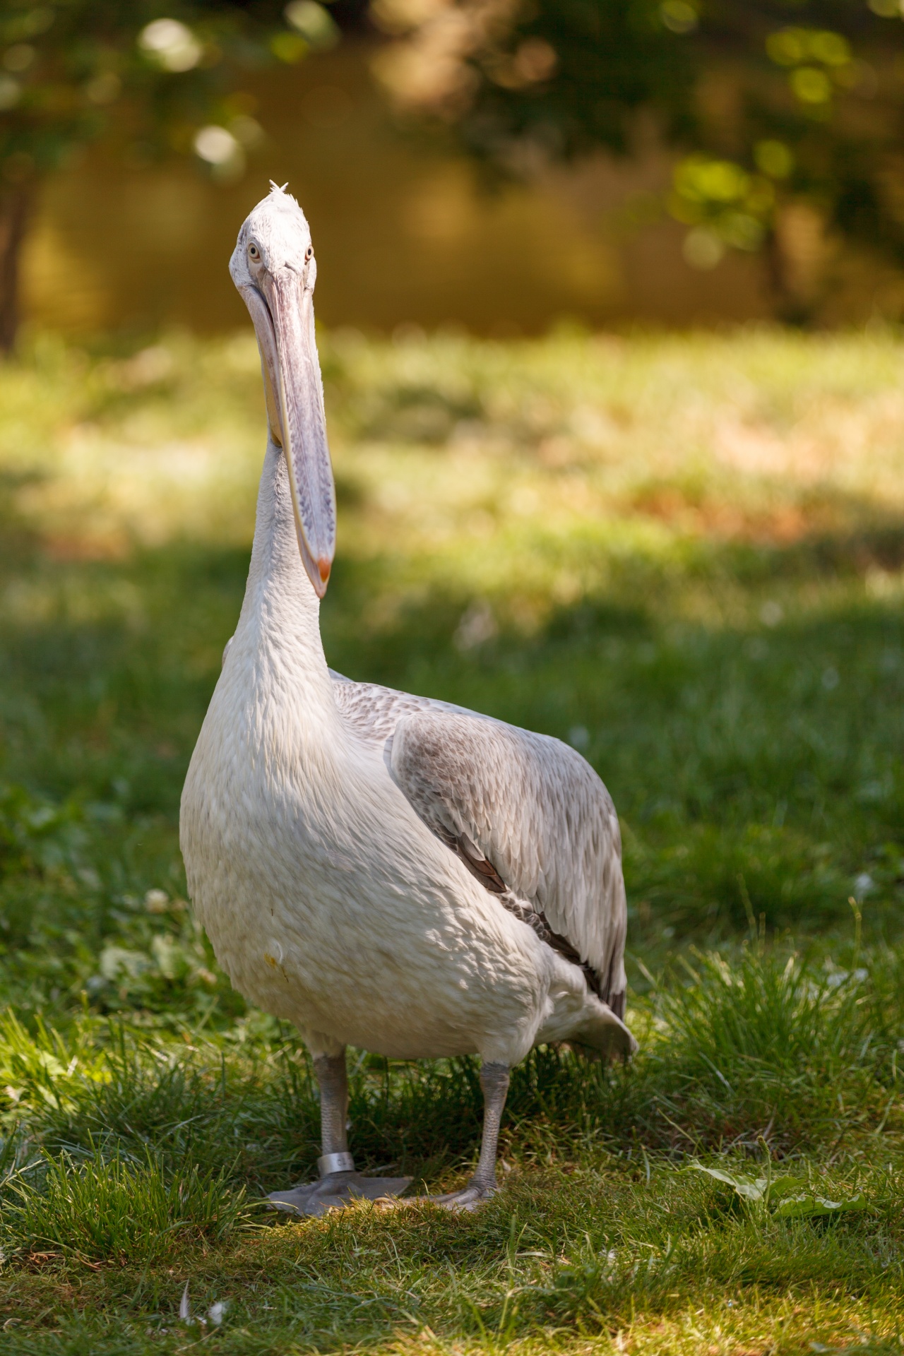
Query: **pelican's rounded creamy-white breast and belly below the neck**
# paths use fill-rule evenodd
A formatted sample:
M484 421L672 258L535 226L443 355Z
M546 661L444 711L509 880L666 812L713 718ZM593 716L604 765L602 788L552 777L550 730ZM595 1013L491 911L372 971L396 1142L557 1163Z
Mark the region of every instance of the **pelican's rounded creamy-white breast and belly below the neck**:
M191 759L188 890L240 993L398 1055L530 1048L546 957L422 824L378 749L294 728L237 643ZM247 674L248 675L248 674ZM259 679L259 673L258 673Z

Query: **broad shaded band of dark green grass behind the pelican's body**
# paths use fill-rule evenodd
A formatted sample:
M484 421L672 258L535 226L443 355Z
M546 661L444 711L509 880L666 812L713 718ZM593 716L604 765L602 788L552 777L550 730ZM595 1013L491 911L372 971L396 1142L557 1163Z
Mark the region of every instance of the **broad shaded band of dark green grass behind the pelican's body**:
M0 542L0 772L28 788L3 803L0 834L11 997L39 1006L84 990L106 1010L163 1013L191 990L192 1020L217 995L224 1014L240 1012L222 980L198 978L213 957L187 915L149 918L142 899L184 895L179 795L247 553L176 542L60 561L8 510ZM901 559L904 526L888 523L787 549L706 545L694 568L713 589L743 584L755 618L777 579L800 598L771 625L674 620L657 589L680 580L629 559L604 595L470 650L457 645L470 598L432 593L377 622L396 565L340 559L324 637L350 677L587 754L622 818L629 945L649 965L760 918L847 933L850 895L876 938L896 934L903 900L904 622L896 595L867 595L862 575ZM851 587L820 594L827 578Z

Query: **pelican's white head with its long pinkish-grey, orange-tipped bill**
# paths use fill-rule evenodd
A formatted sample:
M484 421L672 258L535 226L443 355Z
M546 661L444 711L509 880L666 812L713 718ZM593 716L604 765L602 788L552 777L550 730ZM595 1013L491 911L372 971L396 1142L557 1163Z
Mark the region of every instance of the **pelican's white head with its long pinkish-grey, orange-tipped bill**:
M255 323L270 435L286 454L301 559L323 598L336 551L336 491L314 342L317 264L304 212L275 184L243 222L229 273Z

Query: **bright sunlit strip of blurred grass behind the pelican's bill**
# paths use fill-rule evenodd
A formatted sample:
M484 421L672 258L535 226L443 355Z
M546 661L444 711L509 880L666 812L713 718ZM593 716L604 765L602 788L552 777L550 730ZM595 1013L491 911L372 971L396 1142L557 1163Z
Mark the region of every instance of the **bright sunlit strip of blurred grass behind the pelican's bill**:
M668 555L684 540L846 533L904 502L892 334L339 334L321 348L343 553L401 546L472 587L473 546L500 598L533 565L522 605L580 593L581 570L554 557L590 526ZM14 502L62 556L247 541L263 438L251 334L95 357L42 338L0 384Z

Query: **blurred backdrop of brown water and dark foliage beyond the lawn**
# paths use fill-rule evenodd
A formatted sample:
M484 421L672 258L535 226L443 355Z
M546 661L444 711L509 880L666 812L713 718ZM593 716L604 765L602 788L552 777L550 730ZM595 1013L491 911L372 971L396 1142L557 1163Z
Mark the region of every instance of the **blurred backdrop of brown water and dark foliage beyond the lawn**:
M5 239L43 327L240 324L222 262L271 176L312 220L329 325L904 305L896 0L106 0L3 23L7 218L26 203Z

